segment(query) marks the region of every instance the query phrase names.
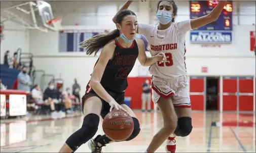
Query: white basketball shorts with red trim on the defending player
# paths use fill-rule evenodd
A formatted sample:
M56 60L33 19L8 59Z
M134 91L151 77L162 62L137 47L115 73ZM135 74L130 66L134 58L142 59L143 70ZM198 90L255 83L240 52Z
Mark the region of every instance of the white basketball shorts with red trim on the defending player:
M160 96L171 98L174 108L191 108L188 76L165 79L157 76L151 78L152 100L157 104Z

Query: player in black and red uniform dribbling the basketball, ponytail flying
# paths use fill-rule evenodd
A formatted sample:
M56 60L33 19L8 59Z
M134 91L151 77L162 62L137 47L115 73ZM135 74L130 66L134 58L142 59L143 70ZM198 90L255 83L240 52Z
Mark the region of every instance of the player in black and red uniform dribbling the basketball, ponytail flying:
M143 40L135 37L138 23L132 11L120 11L117 14L116 26L116 30L94 36L81 44L81 47L86 48L87 55L96 55L100 48L103 49L82 97L83 125L67 138L59 152L75 152L90 140L98 130L100 116L104 118L113 108L126 111L133 119L134 130L127 141L135 138L140 132L135 114L124 103L124 91L128 86L127 76L137 58L142 66L150 66L164 62L165 55L159 53L151 58L145 55ZM98 135L89 142L92 152L101 152L102 146L113 141L106 135Z

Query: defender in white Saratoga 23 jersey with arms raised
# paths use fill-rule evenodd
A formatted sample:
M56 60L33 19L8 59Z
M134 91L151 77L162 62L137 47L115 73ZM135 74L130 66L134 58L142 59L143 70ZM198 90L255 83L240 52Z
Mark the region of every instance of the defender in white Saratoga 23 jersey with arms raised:
M150 67L152 74L152 99L160 109L164 126L153 137L146 152L155 152L166 140L166 151L175 152L175 136L185 137L192 131L192 111L189 84L185 62L185 37L189 30L216 21L227 1L220 1L203 17L174 22L177 6L173 1L159 1L156 25L139 24L138 33L147 38L152 56L164 52L166 62ZM132 1L127 1L120 11L128 9ZM113 18L116 23L116 17Z

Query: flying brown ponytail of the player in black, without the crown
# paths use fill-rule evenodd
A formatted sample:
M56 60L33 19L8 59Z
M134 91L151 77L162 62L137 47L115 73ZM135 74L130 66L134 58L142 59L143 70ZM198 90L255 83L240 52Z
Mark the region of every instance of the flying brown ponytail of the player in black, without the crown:
M94 53L96 56L100 48L103 48L109 41L119 37L120 32L118 29L108 32L106 34L99 34L92 38L81 42L80 47L86 48L86 54L91 55Z

